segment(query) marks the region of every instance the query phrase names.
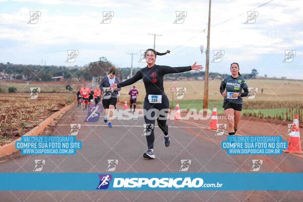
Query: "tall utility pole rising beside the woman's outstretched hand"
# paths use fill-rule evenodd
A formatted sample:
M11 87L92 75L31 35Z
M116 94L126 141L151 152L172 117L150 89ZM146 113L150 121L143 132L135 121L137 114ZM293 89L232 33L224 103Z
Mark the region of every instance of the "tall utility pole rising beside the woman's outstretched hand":
M209 2L209 22L207 31L207 48L206 48L206 65L205 65L205 83L204 83L204 100L203 109L208 109L208 90L209 90L209 66L210 66L210 35L211 35L211 4Z

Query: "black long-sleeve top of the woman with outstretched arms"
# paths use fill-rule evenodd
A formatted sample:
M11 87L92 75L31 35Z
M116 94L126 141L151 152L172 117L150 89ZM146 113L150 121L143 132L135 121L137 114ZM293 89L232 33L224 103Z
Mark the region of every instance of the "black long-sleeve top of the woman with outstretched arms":
M154 65L151 68L147 66L140 69L132 78L118 84L118 88L131 85L136 81L143 79L146 94L165 94L163 87L163 76L171 73L181 73L190 71L191 66L169 67L163 65Z

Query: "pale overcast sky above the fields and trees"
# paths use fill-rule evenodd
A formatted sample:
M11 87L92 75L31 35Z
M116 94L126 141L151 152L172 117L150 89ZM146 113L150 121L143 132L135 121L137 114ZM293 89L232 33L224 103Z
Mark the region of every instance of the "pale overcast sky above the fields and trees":
M211 72L229 73L230 64L238 62L242 73L257 69L261 76L303 79L303 2L269 1L213 1L210 60L215 50L225 53L221 62L210 63ZM39 65L43 59L47 65L83 66L106 57L117 67L129 67L127 53L137 53L133 66L144 67L138 63L140 50L153 47L148 33L156 33L162 34L156 37L157 51L171 50L156 64L197 61L205 67L199 46L207 43L208 8L205 0L0 0L0 62ZM36 24L28 23L30 11L41 13ZM110 23L101 23L103 11L113 11ZM183 23L174 24L177 11L186 12ZM255 23L245 23L248 11L258 12ZM79 51L74 63L65 63L67 50ZM285 50L295 50L292 62L282 62Z

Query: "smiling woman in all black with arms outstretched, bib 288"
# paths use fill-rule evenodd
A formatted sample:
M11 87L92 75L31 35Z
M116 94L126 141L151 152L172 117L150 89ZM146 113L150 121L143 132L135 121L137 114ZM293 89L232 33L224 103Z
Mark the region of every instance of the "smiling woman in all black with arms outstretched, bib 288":
M157 118L156 109L160 112L160 116L157 118L158 126L164 133L164 144L165 146L170 145L170 137L168 133L168 125L166 124L167 121L167 113L169 108L169 100L164 92L163 87L163 76L165 74L170 73L181 73L190 70L198 70L202 69L201 65L196 65L194 63L192 66L186 67L169 67L169 66L162 66L156 65L156 55L161 55L160 53L156 52L154 49L147 49L145 52L145 61L147 62L147 66L140 69L132 78L127 79L120 84L113 84L112 88L117 89L123 86L131 85L136 81L143 78L146 96L144 99L144 120L146 124L155 124L155 119ZM146 110L146 113L145 113ZM151 118L148 118L149 115ZM144 158L147 159L154 159L154 141L155 141L155 134L154 134L154 127L151 127L151 132L149 135L146 135L147 140L147 151L143 154Z

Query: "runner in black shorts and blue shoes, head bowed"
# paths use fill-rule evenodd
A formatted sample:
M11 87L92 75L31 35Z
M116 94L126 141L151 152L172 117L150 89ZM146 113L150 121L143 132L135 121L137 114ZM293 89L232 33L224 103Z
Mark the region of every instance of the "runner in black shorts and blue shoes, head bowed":
M100 81L100 86L99 88L103 90L103 99L102 99L102 104L104 107L104 122L107 122L109 120L108 126L111 128L113 127L112 125L112 119L114 116L114 109L117 104L118 100L118 91L121 90L121 88L118 88L116 90L111 90L110 86L113 83L120 83L119 79L115 76L116 75L116 68L111 68L109 75L105 76L101 81Z

